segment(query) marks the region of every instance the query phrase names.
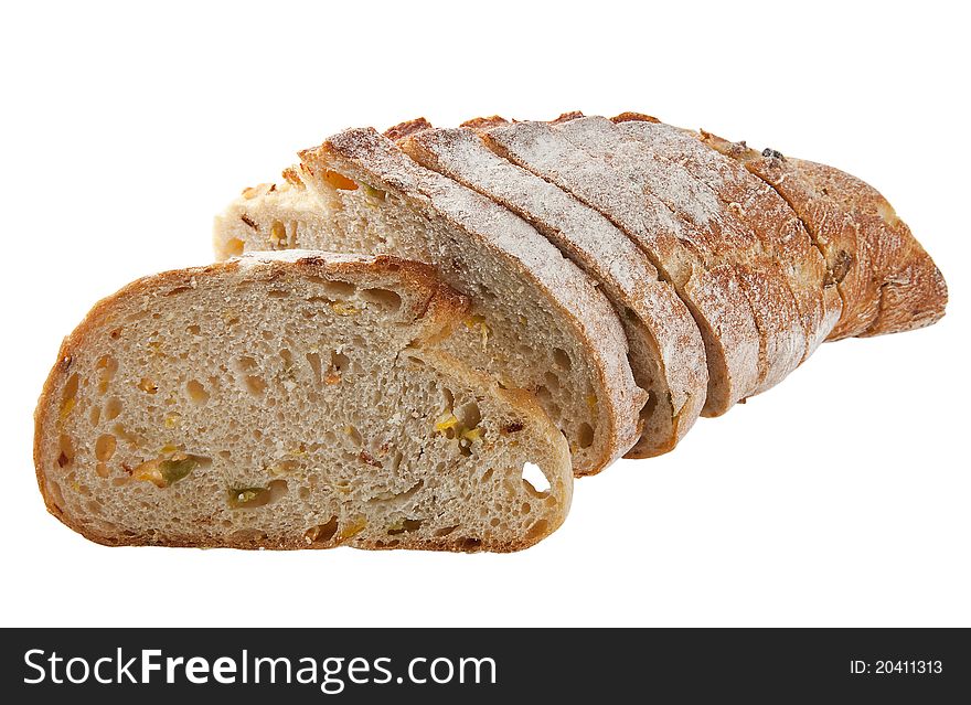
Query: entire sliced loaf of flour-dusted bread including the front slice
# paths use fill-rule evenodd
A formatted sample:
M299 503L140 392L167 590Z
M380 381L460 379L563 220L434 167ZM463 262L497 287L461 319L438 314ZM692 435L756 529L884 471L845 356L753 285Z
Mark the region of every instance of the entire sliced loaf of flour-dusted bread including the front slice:
M867 184L640 114L349 129L65 340L49 510L105 544L513 551L825 340L937 321Z

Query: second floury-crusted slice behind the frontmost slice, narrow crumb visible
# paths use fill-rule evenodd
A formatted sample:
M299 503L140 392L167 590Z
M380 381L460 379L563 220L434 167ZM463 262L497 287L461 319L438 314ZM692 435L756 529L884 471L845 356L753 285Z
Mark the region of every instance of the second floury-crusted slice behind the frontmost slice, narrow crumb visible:
M634 381L651 394L641 438L627 456L671 450L704 406L707 366L691 312L648 256L600 213L502 159L469 128L431 129L415 120L391 133L402 136L399 146L422 165L526 220L600 282L627 332Z

